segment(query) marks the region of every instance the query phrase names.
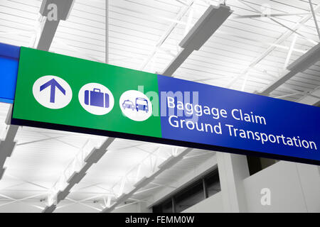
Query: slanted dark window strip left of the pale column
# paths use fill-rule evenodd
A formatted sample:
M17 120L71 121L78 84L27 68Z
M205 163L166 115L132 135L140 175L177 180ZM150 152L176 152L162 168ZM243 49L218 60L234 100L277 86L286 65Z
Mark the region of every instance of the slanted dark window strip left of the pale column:
M216 169L153 206L152 210L154 213L180 213L220 191L219 173Z

